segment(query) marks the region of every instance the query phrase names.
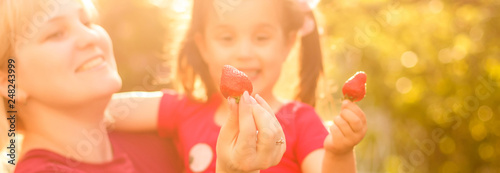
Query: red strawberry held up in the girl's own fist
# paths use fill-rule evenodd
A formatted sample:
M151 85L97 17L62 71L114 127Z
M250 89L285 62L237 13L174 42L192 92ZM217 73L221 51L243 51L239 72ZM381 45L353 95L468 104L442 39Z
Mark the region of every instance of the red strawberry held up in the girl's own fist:
M349 78L342 87L344 99L349 99L353 102L360 101L366 94L366 74L363 71L357 72Z

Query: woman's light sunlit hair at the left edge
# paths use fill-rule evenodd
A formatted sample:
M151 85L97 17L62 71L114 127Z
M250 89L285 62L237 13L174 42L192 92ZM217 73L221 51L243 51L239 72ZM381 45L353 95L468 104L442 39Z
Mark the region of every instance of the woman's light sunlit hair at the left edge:
M32 39L41 27L41 21L47 19L62 5L71 0L1 0L0 1L0 75L7 76L8 60L16 57L16 51L27 40ZM91 0L75 0L91 16L97 12ZM17 66L16 66L17 67ZM16 104L19 104L16 101ZM0 98L0 147L6 142L9 129L6 122L7 99ZM19 106L16 105L16 108ZM22 130L22 121L16 115L16 131ZM5 134L5 135L4 135ZM2 147L4 148L4 147ZM0 148L0 150L2 149Z

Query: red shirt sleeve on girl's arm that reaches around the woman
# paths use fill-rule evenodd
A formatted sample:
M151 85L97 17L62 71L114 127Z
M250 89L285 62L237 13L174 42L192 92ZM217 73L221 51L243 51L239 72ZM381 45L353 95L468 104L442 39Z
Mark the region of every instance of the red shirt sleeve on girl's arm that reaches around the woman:
M161 137L173 137L176 134L179 113L183 109L185 97L173 90L163 90L158 110L158 134Z

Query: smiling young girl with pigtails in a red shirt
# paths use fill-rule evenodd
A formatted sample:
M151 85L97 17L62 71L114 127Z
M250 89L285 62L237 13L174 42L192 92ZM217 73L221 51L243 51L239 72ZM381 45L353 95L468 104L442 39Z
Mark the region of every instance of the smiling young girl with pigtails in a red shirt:
M157 129L161 136L175 139L187 172L212 172L216 165L213 150L217 136L222 135L219 127L229 114L218 90L222 67L229 64L248 75L255 97L271 105L285 133L283 159L263 172L355 172L353 147L366 132L365 114L352 102L343 102L328 134L307 105L314 105L322 69L317 30L302 30L305 23L314 22L312 12L304 12L295 0L194 0L192 11L177 67L185 95L172 91L150 98L140 98L145 93L117 95L116 105L133 103L133 109L119 109L128 114L117 118L116 128ZM300 30L297 100L303 103L273 94ZM201 92L196 87L199 83ZM202 99L199 93L203 93Z

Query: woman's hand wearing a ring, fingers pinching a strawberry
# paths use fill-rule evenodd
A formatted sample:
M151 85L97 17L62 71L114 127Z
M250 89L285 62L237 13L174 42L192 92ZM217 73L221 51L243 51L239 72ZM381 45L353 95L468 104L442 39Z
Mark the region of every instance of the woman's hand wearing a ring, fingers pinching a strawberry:
M277 165L285 136L271 107L245 92L239 105L228 99L231 115L217 139L217 172L258 172Z

